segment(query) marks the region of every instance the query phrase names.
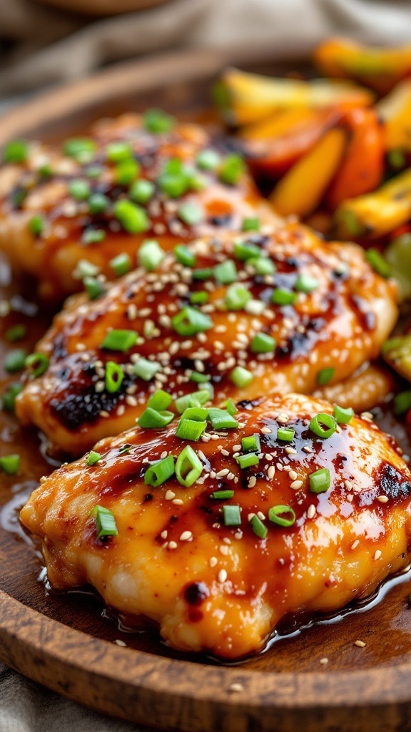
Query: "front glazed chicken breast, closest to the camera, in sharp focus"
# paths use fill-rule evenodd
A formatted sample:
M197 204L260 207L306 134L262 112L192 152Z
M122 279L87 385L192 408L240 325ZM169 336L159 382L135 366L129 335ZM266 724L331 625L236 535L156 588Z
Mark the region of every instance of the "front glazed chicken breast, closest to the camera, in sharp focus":
M53 587L91 583L173 648L235 659L290 614L342 608L406 566L411 471L368 417L313 397L217 413L197 442L184 417L101 441L20 518Z

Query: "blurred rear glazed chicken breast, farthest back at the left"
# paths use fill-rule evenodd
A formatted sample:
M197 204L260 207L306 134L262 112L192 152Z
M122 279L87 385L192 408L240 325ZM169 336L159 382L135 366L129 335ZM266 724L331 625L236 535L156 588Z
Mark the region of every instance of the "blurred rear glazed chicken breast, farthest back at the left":
M241 158L159 111L101 120L61 146L11 143L0 168L0 248L44 298L81 289L81 266L113 279L143 239L167 249L278 218ZM120 255L120 261L116 258Z

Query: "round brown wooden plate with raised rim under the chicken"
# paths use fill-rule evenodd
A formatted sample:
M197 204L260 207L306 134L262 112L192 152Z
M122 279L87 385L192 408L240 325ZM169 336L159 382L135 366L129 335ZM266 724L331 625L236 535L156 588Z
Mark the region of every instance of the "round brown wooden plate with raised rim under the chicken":
M264 49L258 58L255 51L186 52L123 64L12 111L0 122L0 145L18 135L58 139L83 130L98 116L148 105L183 117L206 116L211 81L227 62L276 73L301 67L297 61L276 64ZM12 294L7 276L7 265L0 261L0 301ZM13 302L23 312L0 318L0 327L4 331L12 322L29 324L30 350L50 313L33 316L26 302ZM1 380L4 385L0 365ZM56 594L45 588L39 558L16 530L19 505L50 465L33 458L35 433L23 433L4 412L0 419L0 449L21 455L18 485L0 477L1 660L94 709L163 730L410 729L407 575L391 580L380 593L385 594L382 602L366 612L358 606L348 616L323 619L238 665L171 653L155 630L127 632L119 627L94 594ZM128 647L117 646L116 639ZM356 640L366 646L355 646Z

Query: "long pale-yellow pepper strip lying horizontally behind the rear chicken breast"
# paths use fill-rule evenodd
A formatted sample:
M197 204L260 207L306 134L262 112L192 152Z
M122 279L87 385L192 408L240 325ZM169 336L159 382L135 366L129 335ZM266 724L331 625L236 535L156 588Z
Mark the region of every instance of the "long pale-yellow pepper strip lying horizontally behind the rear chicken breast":
M280 109L325 108L339 103L358 107L374 100L372 91L349 82L270 78L238 69L227 69L218 89L216 102L225 121L237 125L256 122Z

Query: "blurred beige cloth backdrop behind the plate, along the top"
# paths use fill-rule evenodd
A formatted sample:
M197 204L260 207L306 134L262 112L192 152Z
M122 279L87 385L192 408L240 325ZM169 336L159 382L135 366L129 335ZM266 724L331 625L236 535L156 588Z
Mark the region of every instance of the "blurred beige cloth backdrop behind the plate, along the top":
M142 4L154 7L118 12ZM0 0L0 96L160 49L257 42L304 52L329 34L399 45L410 27L409 0Z

